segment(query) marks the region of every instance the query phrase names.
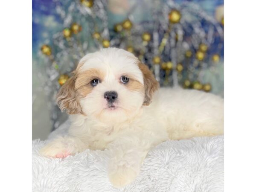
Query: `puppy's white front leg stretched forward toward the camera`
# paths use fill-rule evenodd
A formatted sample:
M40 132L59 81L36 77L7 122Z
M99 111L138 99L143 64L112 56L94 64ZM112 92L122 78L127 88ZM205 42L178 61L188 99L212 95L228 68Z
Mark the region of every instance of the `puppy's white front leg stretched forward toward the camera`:
M109 146L111 159L108 166L109 180L119 188L135 180L148 153L149 145L133 138L119 138Z

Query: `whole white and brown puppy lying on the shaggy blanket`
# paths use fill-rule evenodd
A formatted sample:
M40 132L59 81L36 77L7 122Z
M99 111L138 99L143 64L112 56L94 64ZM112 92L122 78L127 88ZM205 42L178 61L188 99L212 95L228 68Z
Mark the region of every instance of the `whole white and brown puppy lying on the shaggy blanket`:
M148 151L163 141L223 134L223 99L159 88L148 67L123 49L84 56L57 102L70 114L69 133L40 153L64 158L88 148L108 149L108 176L115 187L131 183Z

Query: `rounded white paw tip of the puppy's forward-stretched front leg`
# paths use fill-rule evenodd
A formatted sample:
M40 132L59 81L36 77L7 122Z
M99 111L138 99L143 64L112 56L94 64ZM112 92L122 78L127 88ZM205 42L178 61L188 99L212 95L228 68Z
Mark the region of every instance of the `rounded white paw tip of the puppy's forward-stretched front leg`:
M108 173L110 182L116 188L130 184L135 180L137 175L138 172L126 166L117 166L117 168L109 170Z

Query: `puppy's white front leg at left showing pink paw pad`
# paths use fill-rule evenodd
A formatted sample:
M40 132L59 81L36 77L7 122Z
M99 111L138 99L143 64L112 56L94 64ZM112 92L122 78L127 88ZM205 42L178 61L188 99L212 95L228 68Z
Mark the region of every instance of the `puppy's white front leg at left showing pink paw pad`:
M64 136L45 145L39 153L45 157L65 158L68 155L84 151L86 148L87 145L78 137Z

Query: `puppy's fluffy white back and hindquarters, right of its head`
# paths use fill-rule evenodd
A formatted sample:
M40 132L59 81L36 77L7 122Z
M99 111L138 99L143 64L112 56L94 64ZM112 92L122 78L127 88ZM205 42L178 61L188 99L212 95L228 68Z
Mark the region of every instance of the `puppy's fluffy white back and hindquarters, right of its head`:
M163 123L170 139L223 134L224 99L198 90L160 88L149 113Z

